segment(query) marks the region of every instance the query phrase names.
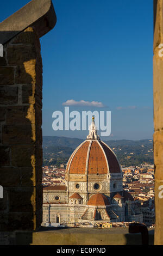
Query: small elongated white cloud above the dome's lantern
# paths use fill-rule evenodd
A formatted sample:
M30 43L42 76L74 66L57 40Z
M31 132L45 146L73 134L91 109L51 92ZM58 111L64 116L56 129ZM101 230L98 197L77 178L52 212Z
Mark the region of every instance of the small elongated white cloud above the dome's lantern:
M63 106L87 106L87 107L105 107L102 102L98 101L75 101L75 100L67 100L66 102L62 103Z

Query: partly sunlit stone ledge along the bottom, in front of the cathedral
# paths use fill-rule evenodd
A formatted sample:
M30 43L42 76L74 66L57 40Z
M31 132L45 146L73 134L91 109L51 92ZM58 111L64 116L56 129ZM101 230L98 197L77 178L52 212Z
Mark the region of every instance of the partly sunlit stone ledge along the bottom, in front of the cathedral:
M149 232L149 245L154 230ZM0 233L0 244L1 235ZM5 234L4 234L5 235ZM13 235L12 242L13 242ZM3 239L2 239L3 241ZM37 232L15 232L16 245L141 245L141 234L129 234L128 228L43 228Z

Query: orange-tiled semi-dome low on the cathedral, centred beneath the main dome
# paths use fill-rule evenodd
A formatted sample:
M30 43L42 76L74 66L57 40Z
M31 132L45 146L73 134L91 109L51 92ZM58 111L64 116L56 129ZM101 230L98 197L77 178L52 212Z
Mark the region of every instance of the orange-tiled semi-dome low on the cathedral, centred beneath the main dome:
M109 200L104 194L97 193L93 194L93 196L88 200L87 205L94 205L94 206L103 206L103 205L110 205Z

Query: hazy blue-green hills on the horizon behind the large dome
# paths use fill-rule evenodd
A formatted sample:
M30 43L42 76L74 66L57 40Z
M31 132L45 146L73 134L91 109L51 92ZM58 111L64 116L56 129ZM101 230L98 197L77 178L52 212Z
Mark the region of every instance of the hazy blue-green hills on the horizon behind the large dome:
M84 139L67 138L57 136L43 136L43 165L59 164L67 162L73 150L82 143ZM141 163L153 163L153 141L142 139L130 141L126 139L118 141L106 141L106 144L114 150L122 165L139 165Z

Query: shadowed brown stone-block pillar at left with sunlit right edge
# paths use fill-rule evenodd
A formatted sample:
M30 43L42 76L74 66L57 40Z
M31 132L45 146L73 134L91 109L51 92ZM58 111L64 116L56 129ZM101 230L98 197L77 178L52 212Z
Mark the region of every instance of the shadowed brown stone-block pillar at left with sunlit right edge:
M42 222L42 59L33 27L0 58L0 230L36 230Z

